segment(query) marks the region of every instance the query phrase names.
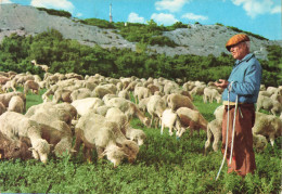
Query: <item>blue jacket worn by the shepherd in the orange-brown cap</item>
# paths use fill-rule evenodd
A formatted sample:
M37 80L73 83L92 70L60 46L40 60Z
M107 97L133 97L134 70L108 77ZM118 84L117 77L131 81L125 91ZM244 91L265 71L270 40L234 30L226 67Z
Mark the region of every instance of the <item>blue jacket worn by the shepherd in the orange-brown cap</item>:
M241 61L236 61L228 78L229 86L222 93L222 101L239 103L256 103L261 80L261 66L254 54L249 53ZM232 82L232 83L231 83Z

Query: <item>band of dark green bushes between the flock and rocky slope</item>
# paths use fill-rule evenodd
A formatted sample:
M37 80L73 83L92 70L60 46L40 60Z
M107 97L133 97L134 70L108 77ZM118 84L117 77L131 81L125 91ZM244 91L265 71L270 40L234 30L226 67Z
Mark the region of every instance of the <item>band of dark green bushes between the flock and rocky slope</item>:
M142 46L142 44L140 44ZM268 48L269 61L260 61L262 83L282 85L281 51L278 46ZM280 55L279 55L280 54ZM43 75L30 61L46 64L50 73L77 73L80 75L101 74L108 77L165 77L168 79L215 81L228 78L234 60L230 54L214 55L175 55L148 54L146 48L133 52L129 49L90 48L76 40L64 39L55 29L50 29L35 37L21 37L15 34L5 37L0 44L0 70L17 73L30 72Z

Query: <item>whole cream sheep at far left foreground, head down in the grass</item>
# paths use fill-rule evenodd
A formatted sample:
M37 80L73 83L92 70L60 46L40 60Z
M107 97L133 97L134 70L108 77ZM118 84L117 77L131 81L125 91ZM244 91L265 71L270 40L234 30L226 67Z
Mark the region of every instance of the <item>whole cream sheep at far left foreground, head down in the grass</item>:
M0 132L9 139L20 140L28 138L31 142L33 157L40 159L42 163L48 161L50 144L41 138L39 125L15 112L5 112L0 116Z

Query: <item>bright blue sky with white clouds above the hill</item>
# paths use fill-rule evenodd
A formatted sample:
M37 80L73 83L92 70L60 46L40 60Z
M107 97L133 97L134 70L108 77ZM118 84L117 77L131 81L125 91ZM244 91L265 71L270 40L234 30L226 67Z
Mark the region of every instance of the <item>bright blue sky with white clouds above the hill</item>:
M154 20L158 25L176 22L203 25L220 23L282 40L281 0L0 0L65 10L78 18L110 20L110 4L114 22L143 23Z

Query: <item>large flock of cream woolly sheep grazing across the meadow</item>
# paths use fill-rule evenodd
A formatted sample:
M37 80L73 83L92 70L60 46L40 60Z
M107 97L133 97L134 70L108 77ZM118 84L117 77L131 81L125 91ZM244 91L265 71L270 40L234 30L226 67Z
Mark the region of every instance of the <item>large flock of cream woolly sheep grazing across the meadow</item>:
M95 150L99 159L106 156L114 167L124 158L132 163L146 138L143 130L130 126L133 117L146 127L161 128L162 134L168 128L169 134L177 138L188 129L191 134L203 129L207 132L205 151L213 137L213 148L217 151L221 138L223 106L216 108L215 119L208 122L193 104L195 94L202 95L204 103L220 103L222 90L214 82L48 72L41 80L29 73L0 72L0 85L1 158L34 157L47 163L50 154L75 157L82 145L87 160L92 159ZM17 86L24 91L16 91ZM41 96L43 103L26 109L27 92L38 94L40 89L47 89ZM130 101L130 93L134 102ZM281 135L282 116L277 116L282 112L281 104L281 87L261 86L257 111L264 108L272 115L257 112L253 128L255 147L266 147L267 139L273 145L274 138Z

